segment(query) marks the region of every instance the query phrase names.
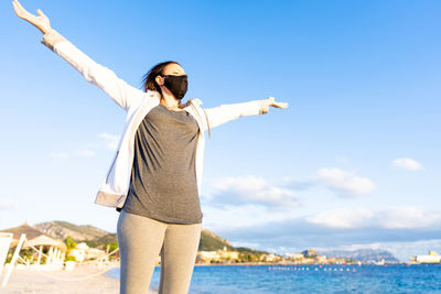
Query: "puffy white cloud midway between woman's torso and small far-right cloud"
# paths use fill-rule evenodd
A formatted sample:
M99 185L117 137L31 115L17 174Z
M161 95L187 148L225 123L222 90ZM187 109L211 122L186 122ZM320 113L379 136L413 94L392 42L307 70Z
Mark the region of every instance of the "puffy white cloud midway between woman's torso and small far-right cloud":
M374 183L369 178L359 177L335 167L320 168L315 181L344 196L366 195L375 188Z

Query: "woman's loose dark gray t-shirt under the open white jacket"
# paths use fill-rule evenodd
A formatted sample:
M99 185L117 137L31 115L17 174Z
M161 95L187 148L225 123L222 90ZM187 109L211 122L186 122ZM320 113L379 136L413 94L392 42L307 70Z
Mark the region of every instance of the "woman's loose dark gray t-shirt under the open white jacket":
M122 210L171 224L201 224L195 151L198 126L186 111L159 105L139 126Z

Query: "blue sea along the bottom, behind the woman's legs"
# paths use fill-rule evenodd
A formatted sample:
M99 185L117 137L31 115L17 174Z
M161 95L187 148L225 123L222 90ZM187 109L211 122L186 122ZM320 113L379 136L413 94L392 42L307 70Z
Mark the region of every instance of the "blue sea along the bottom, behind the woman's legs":
M441 293L441 264L196 265L189 293Z

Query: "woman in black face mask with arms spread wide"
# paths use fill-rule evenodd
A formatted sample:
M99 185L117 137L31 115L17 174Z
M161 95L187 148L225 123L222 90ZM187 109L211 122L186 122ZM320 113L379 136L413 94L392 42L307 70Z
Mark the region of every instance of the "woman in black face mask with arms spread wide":
M19 18L44 34L42 43L63 57L127 111L117 153L96 203L121 211L117 236L121 254L120 293L147 293L161 254L160 293L187 293L202 229L198 192L204 131L245 116L287 108L275 98L203 109L181 100L187 77L176 62L153 66L143 90L90 59L39 17L14 0Z

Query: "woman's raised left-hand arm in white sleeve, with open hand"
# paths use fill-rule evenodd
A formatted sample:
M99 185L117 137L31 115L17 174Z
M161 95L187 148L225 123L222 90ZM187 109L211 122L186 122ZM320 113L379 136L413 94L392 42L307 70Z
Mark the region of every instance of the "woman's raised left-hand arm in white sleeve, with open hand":
M94 62L57 31L52 29L49 18L40 9L36 10L39 15L33 15L18 0L12 1L12 6L19 18L30 22L44 34L42 40L44 45L77 69L87 81L103 89L125 110L128 110L133 102L144 97L146 92L128 85L112 70Z

